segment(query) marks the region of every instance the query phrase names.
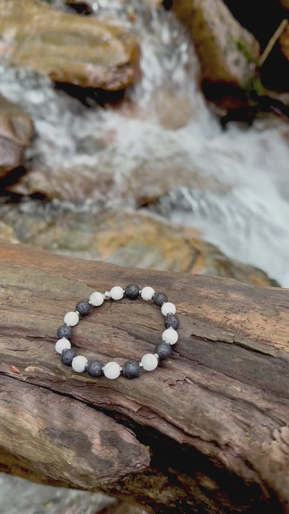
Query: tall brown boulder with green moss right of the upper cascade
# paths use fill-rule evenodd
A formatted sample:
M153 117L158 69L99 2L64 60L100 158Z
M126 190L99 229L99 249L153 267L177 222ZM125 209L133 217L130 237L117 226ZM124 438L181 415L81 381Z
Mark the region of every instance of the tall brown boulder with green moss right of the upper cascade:
M223 1L174 0L172 10L190 30L203 81L244 88L254 76L260 48Z

